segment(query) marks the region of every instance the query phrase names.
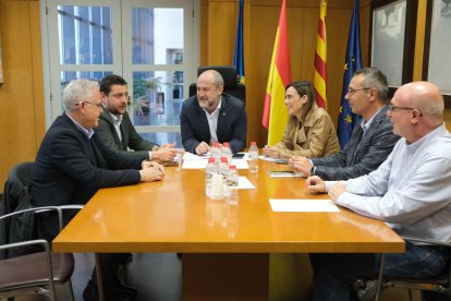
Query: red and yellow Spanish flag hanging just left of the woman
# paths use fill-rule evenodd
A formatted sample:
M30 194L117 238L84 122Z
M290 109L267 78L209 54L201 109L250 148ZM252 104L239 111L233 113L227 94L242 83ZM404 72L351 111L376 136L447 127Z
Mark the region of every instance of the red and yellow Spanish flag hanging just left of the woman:
M288 111L284 105L285 86L291 82L290 47L287 26L287 3L282 1L279 26L266 86L263 125L268 129L268 145L282 140Z

